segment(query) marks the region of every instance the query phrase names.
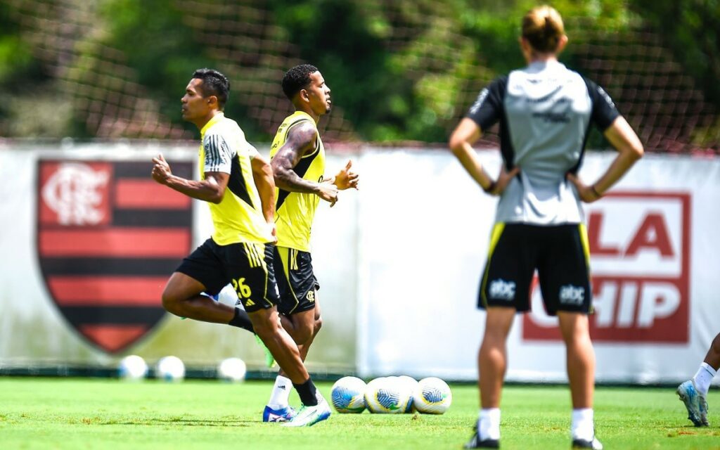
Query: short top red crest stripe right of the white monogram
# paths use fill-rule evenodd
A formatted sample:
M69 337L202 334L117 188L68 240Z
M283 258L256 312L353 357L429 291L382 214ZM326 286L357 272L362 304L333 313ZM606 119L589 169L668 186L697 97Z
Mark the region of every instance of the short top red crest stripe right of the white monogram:
M116 208L181 210L190 207L190 197L152 180L118 179L114 189Z

